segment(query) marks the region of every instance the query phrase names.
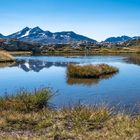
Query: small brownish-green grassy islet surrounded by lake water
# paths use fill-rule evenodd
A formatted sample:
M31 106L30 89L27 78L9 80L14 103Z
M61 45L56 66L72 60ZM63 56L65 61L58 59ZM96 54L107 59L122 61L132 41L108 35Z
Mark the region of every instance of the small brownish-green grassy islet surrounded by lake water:
M67 67L68 77L73 78L100 78L105 75L114 74L118 69L107 64L97 65L73 65Z

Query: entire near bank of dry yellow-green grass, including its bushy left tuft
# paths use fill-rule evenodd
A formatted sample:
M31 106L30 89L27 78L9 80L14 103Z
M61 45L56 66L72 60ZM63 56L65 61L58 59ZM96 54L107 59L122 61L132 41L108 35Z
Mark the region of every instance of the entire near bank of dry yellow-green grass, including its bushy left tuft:
M139 140L140 116L77 105L53 110L48 89L1 98L0 139ZM49 98L48 98L49 97ZM19 102L21 100L21 103ZM11 102L5 108L5 102ZM17 107L18 106L18 107ZM26 107L25 107L26 106Z

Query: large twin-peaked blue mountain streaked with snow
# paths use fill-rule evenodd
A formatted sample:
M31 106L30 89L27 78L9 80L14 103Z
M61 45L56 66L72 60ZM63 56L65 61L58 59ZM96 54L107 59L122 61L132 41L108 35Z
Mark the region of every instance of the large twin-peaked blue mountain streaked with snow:
M7 36L6 38L16 38L21 41L43 44L70 43L76 41L96 42L96 40L90 39L82 35L78 35L72 31L52 33L50 31L43 31L39 27L26 27L19 32Z

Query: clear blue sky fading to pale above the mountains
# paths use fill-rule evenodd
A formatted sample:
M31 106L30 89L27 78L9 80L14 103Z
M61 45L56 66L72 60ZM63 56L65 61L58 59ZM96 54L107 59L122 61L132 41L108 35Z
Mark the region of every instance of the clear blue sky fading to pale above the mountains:
M140 0L0 0L0 33L25 26L74 31L98 41L140 35Z

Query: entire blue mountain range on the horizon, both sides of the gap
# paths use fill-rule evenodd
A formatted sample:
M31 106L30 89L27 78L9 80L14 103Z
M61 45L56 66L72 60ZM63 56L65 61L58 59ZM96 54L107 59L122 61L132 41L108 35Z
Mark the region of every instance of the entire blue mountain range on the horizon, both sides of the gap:
M39 26L34 28L25 27L22 30L10 34L8 36L4 36L0 33L0 38L9 38L9 39L18 39L24 42L31 43L42 43L42 44L68 44L79 41L87 41L97 43L96 40L86 37L84 35L76 34L73 31L61 31L61 32L50 32L44 31ZM109 37L102 41L103 43L117 43L117 42L125 42L128 40L138 39L140 36L118 36L118 37Z

